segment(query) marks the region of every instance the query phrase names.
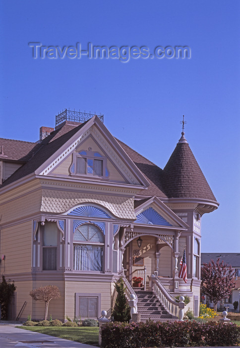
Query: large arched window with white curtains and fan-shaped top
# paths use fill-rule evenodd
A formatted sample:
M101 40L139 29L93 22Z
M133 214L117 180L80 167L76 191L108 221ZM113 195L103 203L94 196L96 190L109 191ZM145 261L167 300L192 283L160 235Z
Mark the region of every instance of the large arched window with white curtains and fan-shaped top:
M93 224L79 226L73 235L73 269L103 270L104 236Z

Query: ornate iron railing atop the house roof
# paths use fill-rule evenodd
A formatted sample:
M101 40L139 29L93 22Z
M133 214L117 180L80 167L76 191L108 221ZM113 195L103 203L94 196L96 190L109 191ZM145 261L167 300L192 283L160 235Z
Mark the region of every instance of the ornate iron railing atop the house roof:
M79 111L75 111L75 110L63 110L61 113L59 113L58 115L56 115L56 127L58 125L60 125L62 122L64 121L71 121L71 122L79 122L79 123L83 123L87 120L90 120L90 118L92 118L93 116L97 116L100 121L103 122L103 115L96 115L93 114L91 112L87 113L87 112L81 112Z

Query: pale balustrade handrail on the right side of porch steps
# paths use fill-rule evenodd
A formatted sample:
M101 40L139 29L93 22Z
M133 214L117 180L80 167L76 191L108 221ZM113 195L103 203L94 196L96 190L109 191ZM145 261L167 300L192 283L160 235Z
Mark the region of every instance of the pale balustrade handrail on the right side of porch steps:
M180 298L180 302L177 302L170 295L168 290L163 286L161 281L156 277L155 274L151 275L152 278L152 291L157 296L159 301L163 304L165 309L172 315L177 316L179 314L180 320L183 318L183 310L185 307L184 297Z

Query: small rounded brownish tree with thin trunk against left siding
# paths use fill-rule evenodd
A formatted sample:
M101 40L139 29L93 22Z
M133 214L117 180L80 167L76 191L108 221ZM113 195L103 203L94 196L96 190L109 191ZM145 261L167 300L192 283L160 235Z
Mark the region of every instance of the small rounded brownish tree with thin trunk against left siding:
M49 302L60 297L60 290L56 285L46 285L30 291L29 295L35 301L45 302L45 320L47 320Z

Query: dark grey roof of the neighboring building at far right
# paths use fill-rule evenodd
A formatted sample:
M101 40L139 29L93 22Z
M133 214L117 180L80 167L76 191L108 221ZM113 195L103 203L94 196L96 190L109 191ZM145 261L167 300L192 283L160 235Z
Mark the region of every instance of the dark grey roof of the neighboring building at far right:
M201 264L209 263L211 260L216 263L218 259L240 268L240 253L201 253Z

